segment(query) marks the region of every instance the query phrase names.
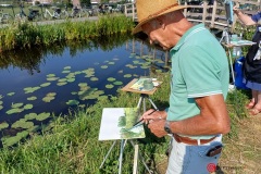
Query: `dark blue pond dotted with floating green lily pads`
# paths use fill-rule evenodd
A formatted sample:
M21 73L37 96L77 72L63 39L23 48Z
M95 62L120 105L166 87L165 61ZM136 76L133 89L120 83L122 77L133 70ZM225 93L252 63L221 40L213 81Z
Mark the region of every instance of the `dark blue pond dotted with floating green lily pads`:
M9 51L0 55L0 138L12 145L75 107L115 95L133 78L167 71L166 52L140 40L91 42Z

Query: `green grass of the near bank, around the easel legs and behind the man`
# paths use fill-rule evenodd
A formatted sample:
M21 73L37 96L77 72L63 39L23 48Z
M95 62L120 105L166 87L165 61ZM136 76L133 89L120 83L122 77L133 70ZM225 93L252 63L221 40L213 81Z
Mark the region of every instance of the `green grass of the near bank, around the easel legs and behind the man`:
M164 109L169 103L170 74L161 73L157 77L162 79L163 84L151 98L160 109ZM17 147L1 149L1 173L117 173L120 146L115 146L104 167L99 170L103 157L112 145L112 141L98 140L102 109L136 107L138 99L137 94L119 90L117 96L99 99L95 105L54 117L54 121L44 127L40 134L32 133L28 139ZM236 90L228 94L226 103L232 119L232 132L224 136L225 148L221 160L223 166L227 166L222 162L233 153L234 142L239 144L238 138L243 137L238 128L241 128L243 122L249 120L244 109L247 100L248 95L245 91ZM150 169L160 172L159 164L166 159L165 149L169 139L167 137L156 138L147 129L146 135L145 139L139 139L137 142ZM248 136L247 130L244 136ZM260 157L260 153L258 156L256 153L260 152L260 145L246 146L254 146L256 151L251 151L253 156L249 156L249 160L254 162ZM123 173L132 172L133 150L130 144L127 144L124 151ZM243 153L244 151L238 150L235 156ZM246 165L239 164L239 166L238 173L244 172ZM142 164L139 170L144 173Z

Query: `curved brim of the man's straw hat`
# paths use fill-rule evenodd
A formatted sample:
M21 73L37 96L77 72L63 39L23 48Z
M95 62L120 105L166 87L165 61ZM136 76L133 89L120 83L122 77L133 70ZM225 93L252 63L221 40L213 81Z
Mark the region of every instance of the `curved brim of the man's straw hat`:
M151 21L151 20L153 20L153 18L156 18L156 17L159 17L159 16L161 16L161 15L163 15L163 14L166 14L166 13L170 13L170 12L173 12L173 11L177 11L177 10L182 10L182 9L186 9L186 8L188 8L188 7L187 7L187 5L173 7L173 8L170 8L170 9L167 9L166 11L164 11L164 12L162 12L162 13L156 15L156 16L151 16L151 17L148 17L148 18L146 18L146 20L142 20L142 21L139 22L139 23L135 26L135 28L133 29L133 35L134 35L134 34L137 34L137 33L139 33L139 32L142 32L141 25L148 23L149 21Z

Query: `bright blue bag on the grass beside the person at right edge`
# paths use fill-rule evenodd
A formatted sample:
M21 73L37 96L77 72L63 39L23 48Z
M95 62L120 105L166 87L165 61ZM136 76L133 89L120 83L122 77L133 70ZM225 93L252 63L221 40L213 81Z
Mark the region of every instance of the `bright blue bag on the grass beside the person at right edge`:
M246 84L243 83L243 78L244 78L243 66L244 66L244 62L245 62L245 57L240 57L240 58L235 60L235 64L234 64L235 86L236 86L236 88L239 88L239 89L249 89L248 87L246 87Z

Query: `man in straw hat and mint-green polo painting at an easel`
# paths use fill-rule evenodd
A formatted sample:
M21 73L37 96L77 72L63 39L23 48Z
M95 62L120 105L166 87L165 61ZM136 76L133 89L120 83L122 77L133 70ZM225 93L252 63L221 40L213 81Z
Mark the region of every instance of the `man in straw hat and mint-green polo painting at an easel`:
M136 0L136 8L139 23L133 34L144 32L171 54L170 107L141 116L156 136L172 137L166 173L215 172L222 135L231 129L225 50L203 24L187 21L187 7L176 0Z

